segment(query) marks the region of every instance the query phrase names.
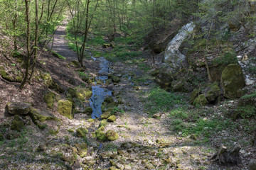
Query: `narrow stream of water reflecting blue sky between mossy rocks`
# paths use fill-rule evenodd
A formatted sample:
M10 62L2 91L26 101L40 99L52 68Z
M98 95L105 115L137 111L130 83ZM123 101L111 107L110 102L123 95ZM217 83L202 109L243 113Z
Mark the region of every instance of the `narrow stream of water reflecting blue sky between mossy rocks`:
M96 77L95 84L96 86L92 86L92 97L90 98L90 107L92 108L92 118L100 118L102 115L102 103L107 96L112 96L112 91L102 88L101 85L97 85L97 80L107 80L108 74L112 71L110 69L110 62L107 61L104 57L100 57L100 59L96 59L92 57L93 60L100 60L100 76Z

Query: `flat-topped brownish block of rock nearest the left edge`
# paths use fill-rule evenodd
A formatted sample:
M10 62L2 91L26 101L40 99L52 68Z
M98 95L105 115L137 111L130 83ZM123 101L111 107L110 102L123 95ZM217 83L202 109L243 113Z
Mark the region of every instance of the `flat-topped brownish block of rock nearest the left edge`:
M6 108L11 115L26 115L31 111L31 103L27 102L12 102L7 103Z

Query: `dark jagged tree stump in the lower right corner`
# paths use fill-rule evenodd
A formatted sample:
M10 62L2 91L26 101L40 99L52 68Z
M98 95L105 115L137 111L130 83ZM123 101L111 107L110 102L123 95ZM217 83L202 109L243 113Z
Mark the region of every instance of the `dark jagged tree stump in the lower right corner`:
M220 164L238 164L241 162L239 151L241 146L239 144L235 145L233 149L227 149L225 146L220 146L218 152L210 157L212 162L219 162Z

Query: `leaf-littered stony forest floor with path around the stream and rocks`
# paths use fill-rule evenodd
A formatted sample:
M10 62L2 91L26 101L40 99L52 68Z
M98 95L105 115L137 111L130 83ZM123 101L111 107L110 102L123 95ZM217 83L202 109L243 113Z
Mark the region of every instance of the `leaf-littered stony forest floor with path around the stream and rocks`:
M188 102L189 94L171 93L170 96L159 89L150 75L154 69L150 55L137 51L122 38L115 42L114 48L89 45L87 51L90 53L85 58L87 69L82 70L72 62L76 60L75 52L68 49L64 31L64 27L57 31L53 50L66 60L53 57L49 50L42 50L38 79L23 91L18 89L16 82L0 81L0 131L4 134L0 142L1 169L246 169L249 160L255 158L256 150L251 144L255 120L233 121L225 115L236 101L194 107ZM112 110L117 120L107 123L103 130L118 133L119 138L112 142L100 142L95 137L102 120L92 120L90 114L79 112L70 120L58 113L57 102L50 109L43 99L48 91L57 92L47 88L40 76L42 73L50 74L64 89L65 92L57 94L58 98L65 98L70 87L95 86L93 81L90 84L82 81L85 75L90 79L99 76L100 60L93 60L90 55L110 60L112 74L120 79L119 83L97 82L112 91L114 101L119 103ZM9 69L16 62L3 56L0 59L1 66ZM11 101L31 102L34 108L48 110L60 121L46 121L46 128L40 130L25 117L26 127L15 132L10 129L13 117L5 113L6 103ZM89 103L90 98L87 98L82 106ZM78 128L88 130L86 137L77 136ZM220 166L208 160L220 145L232 147L236 142L242 145L240 164ZM87 144L87 154L80 157L75 144L83 143ZM39 145L43 148L38 149Z

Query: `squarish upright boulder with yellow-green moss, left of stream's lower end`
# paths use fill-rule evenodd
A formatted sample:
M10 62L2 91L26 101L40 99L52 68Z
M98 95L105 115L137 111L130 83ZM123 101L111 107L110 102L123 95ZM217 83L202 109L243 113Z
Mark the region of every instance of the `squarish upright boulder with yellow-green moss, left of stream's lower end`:
M73 119L75 113L75 106L73 102L66 99L58 101L58 113L69 119Z

